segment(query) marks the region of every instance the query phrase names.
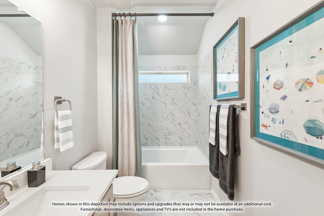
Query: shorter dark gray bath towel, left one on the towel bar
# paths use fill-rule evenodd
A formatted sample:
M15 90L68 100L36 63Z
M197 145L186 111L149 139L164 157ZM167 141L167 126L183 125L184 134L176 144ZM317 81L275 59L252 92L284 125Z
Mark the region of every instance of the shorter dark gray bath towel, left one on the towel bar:
M216 129L215 129L215 133L216 133L216 138L215 138L215 145L212 145L211 143L209 143L209 170L211 172L211 174L215 177L215 178L219 178L218 177L218 169L219 169L219 163L218 163L218 154L219 154L219 132L218 132L218 121L219 121L219 111L220 111L220 107L221 105L217 106L217 112L216 112Z

